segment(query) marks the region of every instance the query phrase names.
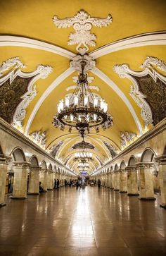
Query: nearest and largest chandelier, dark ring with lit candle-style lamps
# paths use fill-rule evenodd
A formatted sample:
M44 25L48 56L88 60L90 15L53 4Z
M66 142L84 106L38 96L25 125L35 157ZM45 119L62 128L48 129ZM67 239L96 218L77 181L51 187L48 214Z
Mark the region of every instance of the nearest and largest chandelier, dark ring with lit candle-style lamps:
M86 131L89 133L90 128L94 127L97 133L99 127L103 130L110 128L113 126L113 118L107 112L108 104L105 100L94 96L89 88L87 73L84 73L86 61L83 59L80 64L82 72L79 73L77 87L71 97L60 100L53 125L60 130L69 126L69 132L75 127L83 137Z

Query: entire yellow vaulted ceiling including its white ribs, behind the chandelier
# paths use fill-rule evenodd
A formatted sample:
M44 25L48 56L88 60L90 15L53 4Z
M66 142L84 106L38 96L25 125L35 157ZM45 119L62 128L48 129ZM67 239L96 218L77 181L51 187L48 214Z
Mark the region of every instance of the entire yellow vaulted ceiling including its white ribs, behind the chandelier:
M70 169L79 172L77 164L73 161L77 150L72 149L75 143L82 141L77 130L69 133L68 128L61 131L52 124L59 100L73 92L73 87L70 86L75 85L73 77L78 73L70 67L70 61L79 53L76 50L77 44L68 44L70 33L75 33L73 26L58 28L53 23L53 17L71 19L80 10L84 10L92 18L107 18L108 15L113 18L110 24L102 28L92 25L90 30L96 35L96 45L88 45L87 51L91 59L96 61L96 67L88 72L88 76L94 78L90 83L91 90L108 102L108 112L113 116L113 127L100 130L99 133L91 130L91 133L85 136L85 140L95 147L90 150L94 154L94 161L90 164L89 173L151 129L154 124L152 100L148 101L148 90L141 90L141 83L147 85L147 79L153 79L156 85L158 81L152 78L154 71L155 75L161 75L160 80L165 83L165 7L166 4L162 0L0 1L1 69L5 61L15 57L25 65L9 65L8 68L4 66L4 71L0 73L1 87L6 83L3 78L9 71L16 72L19 69L23 73L32 73L39 65L48 66L45 76L37 77L32 85L32 88L36 85L34 97L30 99L27 96L23 126L15 123L15 128L37 143L41 143L41 140L37 140L37 134L42 135L41 146ZM148 59L150 62L147 62L147 57L151 57ZM127 64L128 71L122 69L124 63ZM138 79L135 81L140 86L134 98L131 85L136 88L133 81L136 77ZM145 79L142 81L143 77ZM25 75L24 79L27 78L28 75ZM157 90L156 88L153 89ZM142 99L142 105L139 92L147 97L147 100ZM1 99L5 97L3 93L0 94ZM143 107L146 108L146 115L151 111L150 121L147 121L147 116L143 118ZM16 107L14 110L16 111ZM2 113L0 115L3 117ZM155 113L156 120L160 121L161 118L163 115L160 117L160 113ZM35 138L32 135L34 132Z

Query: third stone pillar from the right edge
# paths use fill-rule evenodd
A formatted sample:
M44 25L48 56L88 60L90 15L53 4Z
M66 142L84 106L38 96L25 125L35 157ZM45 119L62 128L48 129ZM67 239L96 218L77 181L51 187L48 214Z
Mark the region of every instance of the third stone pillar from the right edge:
M136 166L127 166L127 195L139 195Z

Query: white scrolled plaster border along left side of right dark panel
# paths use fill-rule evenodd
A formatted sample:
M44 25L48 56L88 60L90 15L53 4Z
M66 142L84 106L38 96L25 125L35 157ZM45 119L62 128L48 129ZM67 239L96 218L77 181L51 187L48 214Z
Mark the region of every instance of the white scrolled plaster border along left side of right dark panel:
M132 81L134 86L131 85L129 95L134 99L134 102L136 102L136 104L141 108L141 117L145 122L145 126L148 126L148 124L152 124L153 118L151 107L145 100L146 96L139 92L139 85L138 83L136 83L136 80L132 77L132 75L138 75L139 73L130 70L127 64L115 65L113 67L113 70L120 76L120 78L128 78Z

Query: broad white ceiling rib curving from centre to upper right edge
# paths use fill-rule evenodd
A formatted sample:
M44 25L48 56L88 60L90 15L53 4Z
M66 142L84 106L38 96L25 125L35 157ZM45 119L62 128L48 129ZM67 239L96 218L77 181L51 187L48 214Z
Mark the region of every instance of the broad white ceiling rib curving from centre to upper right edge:
M91 51L89 56L93 59L110 54L111 52L120 51L123 49L129 49L134 47L143 47L147 45L165 45L166 44L166 31L151 32L134 37L128 37L103 47L100 47L94 51Z

